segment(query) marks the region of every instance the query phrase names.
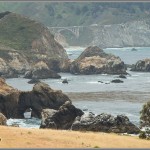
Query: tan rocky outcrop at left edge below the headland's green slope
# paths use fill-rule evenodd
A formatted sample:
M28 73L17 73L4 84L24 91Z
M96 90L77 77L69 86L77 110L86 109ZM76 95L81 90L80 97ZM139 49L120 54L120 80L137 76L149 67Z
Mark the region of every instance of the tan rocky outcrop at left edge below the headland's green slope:
M30 65L25 55L10 48L0 47L0 75L2 77L18 77L29 68Z

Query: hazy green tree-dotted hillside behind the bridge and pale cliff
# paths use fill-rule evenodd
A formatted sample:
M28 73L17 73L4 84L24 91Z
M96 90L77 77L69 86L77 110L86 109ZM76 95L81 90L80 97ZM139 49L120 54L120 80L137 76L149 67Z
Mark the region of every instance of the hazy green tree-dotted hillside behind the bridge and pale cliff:
M0 2L0 12L13 11L47 26L119 24L150 16L150 3L139 2Z

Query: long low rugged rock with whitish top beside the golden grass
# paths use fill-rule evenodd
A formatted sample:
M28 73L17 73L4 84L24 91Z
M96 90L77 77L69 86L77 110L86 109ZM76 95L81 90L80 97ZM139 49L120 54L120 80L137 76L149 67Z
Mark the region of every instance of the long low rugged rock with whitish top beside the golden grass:
M84 114L77 117L72 124L72 130L76 131L100 131L114 133L138 134L139 128L129 121L124 115L114 117L110 114L95 115L93 113Z

